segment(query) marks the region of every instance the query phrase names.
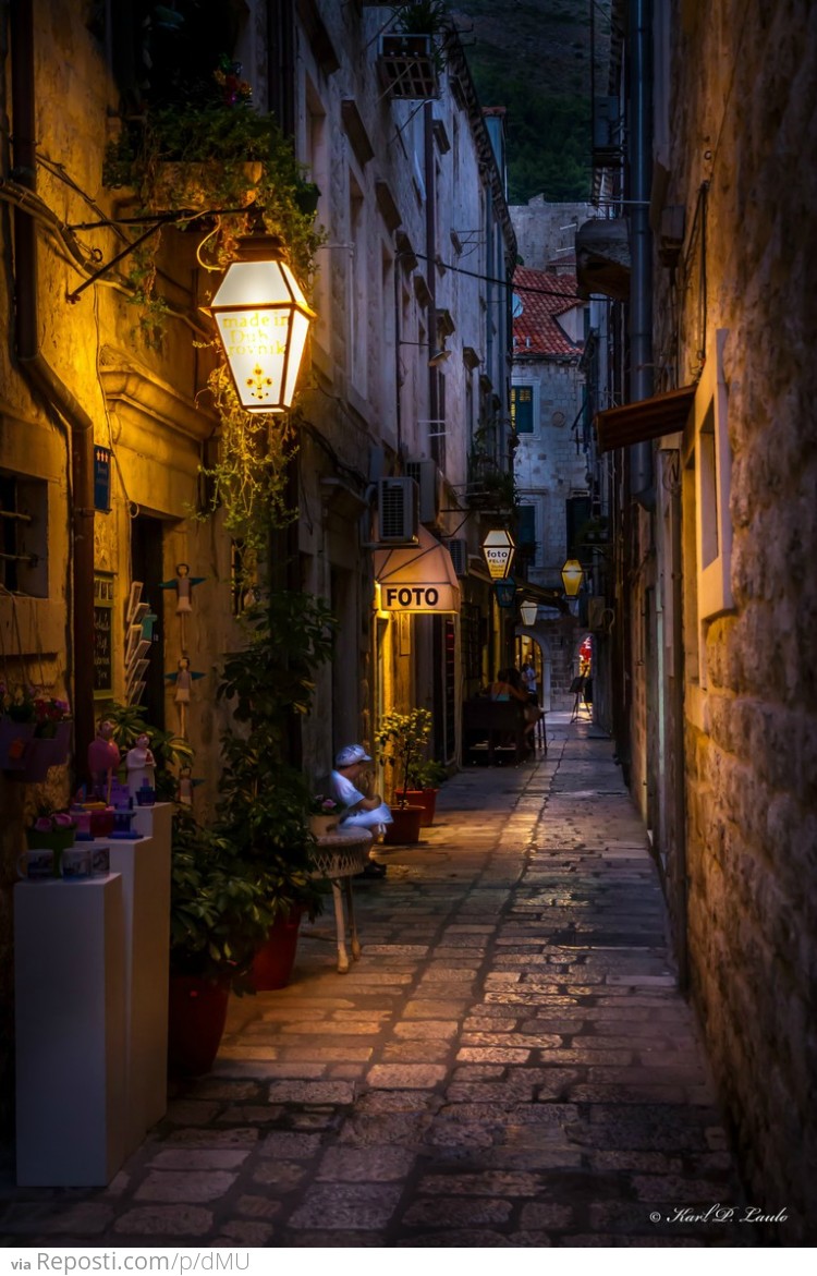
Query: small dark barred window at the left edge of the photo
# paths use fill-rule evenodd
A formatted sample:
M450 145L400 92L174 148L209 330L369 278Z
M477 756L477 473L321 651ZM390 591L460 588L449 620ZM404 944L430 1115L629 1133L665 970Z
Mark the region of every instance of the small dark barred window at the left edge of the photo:
M0 472L0 584L10 593L49 596L49 485Z

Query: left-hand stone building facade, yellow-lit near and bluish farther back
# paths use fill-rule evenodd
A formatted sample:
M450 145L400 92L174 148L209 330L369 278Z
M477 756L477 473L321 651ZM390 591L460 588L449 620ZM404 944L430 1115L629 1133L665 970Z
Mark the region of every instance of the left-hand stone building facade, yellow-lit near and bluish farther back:
M204 392L212 330L199 309L212 292L199 255L206 259L200 241L211 227L165 231L161 339L140 323L128 263L114 262L138 231L126 219L126 194L103 185L103 161L128 111L138 111L146 68L134 59L152 8L34 0L1 10L9 56L0 85L0 505L9 558L0 560L0 678L70 701L78 762L52 768L38 785L0 775L5 1125L11 884L23 827L38 803L69 800L96 718L128 698L129 632L148 623L142 614L134 623L134 586L139 606L149 606L139 638L147 647L142 703L153 727L181 727L172 683L179 660L186 656L202 675L184 730L204 818L216 800L226 722L217 671L223 653L243 643L241 546L223 512L197 517L207 503L202 467L212 464L220 430ZM465 490L480 421L495 424L491 448L508 463L511 308L509 288L497 281L509 278L516 244L502 129L494 122L488 131L453 31L438 34L426 79L403 64L411 87L400 75L396 84L380 37L393 31L398 8L361 0L174 6L189 22L189 61L200 59L204 71L217 69L221 54L239 63L254 107L276 115L319 191L323 241L317 277L304 281L318 318L287 490L297 518L278 546L289 586L326 598L340 621L334 658L319 672L301 732L308 776L324 773L350 739L371 743L391 707L437 708L435 750L447 762L458 755L458 609L400 616L380 609L371 550L380 478L420 478L421 526L412 531L429 536L446 560L442 540L462 540L461 592L488 620L488 633L477 624L471 634L490 638L489 586L471 578L479 526ZM92 279L106 263L112 268ZM197 581L184 615L180 565ZM486 665L477 652L480 660Z

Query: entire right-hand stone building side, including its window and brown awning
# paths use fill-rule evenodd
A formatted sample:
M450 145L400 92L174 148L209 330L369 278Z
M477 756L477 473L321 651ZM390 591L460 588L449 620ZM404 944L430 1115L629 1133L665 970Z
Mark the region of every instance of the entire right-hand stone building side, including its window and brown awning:
M748 1197L794 1245L817 1203L817 13L656 4L645 60L643 8L619 17L624 97L656 68L657 398L599 422L631 582L619 712Z

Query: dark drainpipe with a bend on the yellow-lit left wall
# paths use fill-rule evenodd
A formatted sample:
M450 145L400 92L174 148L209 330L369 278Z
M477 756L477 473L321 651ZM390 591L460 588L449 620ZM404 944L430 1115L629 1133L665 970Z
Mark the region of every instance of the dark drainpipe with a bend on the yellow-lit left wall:
M13 163L22 186L36 190L34 34L31 4L13 4L11 108ZM14 209L14 301L19 367L37 398L69 430L71 482L69 508L73 549L74 767L87 777L93 726L93 421L60 380L40 350L37 293L37 227L33 217Z

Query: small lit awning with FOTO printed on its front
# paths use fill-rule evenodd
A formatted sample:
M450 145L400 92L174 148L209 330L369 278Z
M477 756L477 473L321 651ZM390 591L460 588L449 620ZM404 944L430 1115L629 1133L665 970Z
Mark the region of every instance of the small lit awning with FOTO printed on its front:
M444 545L420 528L419 545L374 551L380 611L460 611L460 583Z

